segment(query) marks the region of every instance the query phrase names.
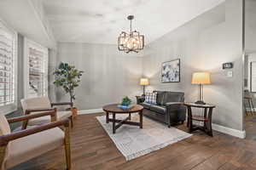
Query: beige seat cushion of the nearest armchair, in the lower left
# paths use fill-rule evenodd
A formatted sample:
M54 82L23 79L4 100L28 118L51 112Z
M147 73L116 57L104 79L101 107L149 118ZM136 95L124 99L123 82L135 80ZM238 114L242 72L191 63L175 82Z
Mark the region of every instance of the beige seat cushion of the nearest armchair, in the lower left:
M35 133L9 142L9 153L5 161L7 168L40 156L64 144L65 135L59 127Z

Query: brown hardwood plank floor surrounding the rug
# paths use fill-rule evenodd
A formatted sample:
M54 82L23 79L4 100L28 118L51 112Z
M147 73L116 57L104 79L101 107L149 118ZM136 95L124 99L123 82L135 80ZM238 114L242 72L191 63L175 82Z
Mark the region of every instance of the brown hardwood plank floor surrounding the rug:
M125 161L95 116L78 116L71 132L73 170L249 170L256 169L256 142L213 132L195 132L189 139L146 156ZM187 131L187 127L178 126ZM13 170L65 169L64 150L50 151Z

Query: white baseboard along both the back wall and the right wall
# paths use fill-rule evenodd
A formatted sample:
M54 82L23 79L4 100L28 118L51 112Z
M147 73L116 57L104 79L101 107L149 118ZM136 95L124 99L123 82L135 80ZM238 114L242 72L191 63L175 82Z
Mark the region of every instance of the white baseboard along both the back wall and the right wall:
M79 115L101 113L101 112L103 112L102 109L81 110L81 111L79 111ZM196 122L193 122L193 123L199 124ZM216 130L220 133L230 134L231 136L235 136L235 137L241 138L241 139L245 139L245 137L246 137L245 131L236 130L236 129L230 128L230 127L224 127L224 126L221 126L221 125L218 125L215 123L212 123L212 129Z

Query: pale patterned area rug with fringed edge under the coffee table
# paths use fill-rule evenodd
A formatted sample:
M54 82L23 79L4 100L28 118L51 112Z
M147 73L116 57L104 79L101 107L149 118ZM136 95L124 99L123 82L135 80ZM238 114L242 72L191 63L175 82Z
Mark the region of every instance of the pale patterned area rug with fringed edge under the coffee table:
M117 119L124 119L125 115L116 115ZM139 127L122 125L112 133L112 122L106 123L106 116L96 116L102 127L108 133L113 143L125 156L126 161L144 156L154 150L160 150L169 144L189 138L191 134L185 133L175 127L168 128L160 122L143 117L143 129ZM131 121L138 122L137 114L131 116Z

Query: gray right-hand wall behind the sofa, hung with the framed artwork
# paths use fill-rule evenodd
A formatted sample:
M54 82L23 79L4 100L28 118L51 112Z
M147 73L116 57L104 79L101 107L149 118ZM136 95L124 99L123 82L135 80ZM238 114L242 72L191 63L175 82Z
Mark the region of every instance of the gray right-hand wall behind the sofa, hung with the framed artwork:
M217 105L213 123L242 130L242 1L225 3L150 43L144 51L143 75L148 89L184 91L186 101L197 99L191 85L194 71L209 71L212 84L205 86L205 101ZM181 59L181 82L161 83L160 65ZM233 77L226 77L224 62L233 62Z

